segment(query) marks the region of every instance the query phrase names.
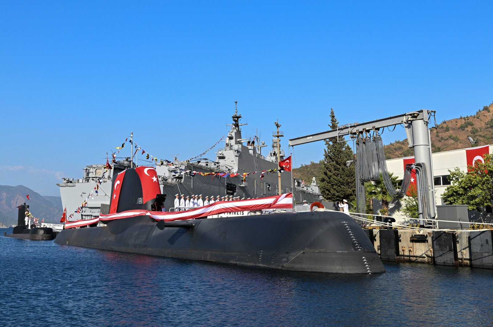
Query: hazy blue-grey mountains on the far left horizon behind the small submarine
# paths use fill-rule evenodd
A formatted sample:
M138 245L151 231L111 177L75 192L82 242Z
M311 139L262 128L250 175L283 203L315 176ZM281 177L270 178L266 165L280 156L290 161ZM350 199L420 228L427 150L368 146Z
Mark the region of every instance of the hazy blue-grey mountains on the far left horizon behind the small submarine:
M30 200L26 198L29 195ZM17 206L29 204L29 210L45 223L59 223L62 217L62 199L59 196L41 196L22 186L0 185L0 222L5 225L17 225Z

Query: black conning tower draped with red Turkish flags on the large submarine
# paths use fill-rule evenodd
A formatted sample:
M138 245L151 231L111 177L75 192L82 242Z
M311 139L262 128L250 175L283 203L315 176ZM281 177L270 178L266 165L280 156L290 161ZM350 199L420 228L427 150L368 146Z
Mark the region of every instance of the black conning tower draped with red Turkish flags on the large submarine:
M155 168L128 168L113 176L109 213L136 209L162 211L165 199Z

